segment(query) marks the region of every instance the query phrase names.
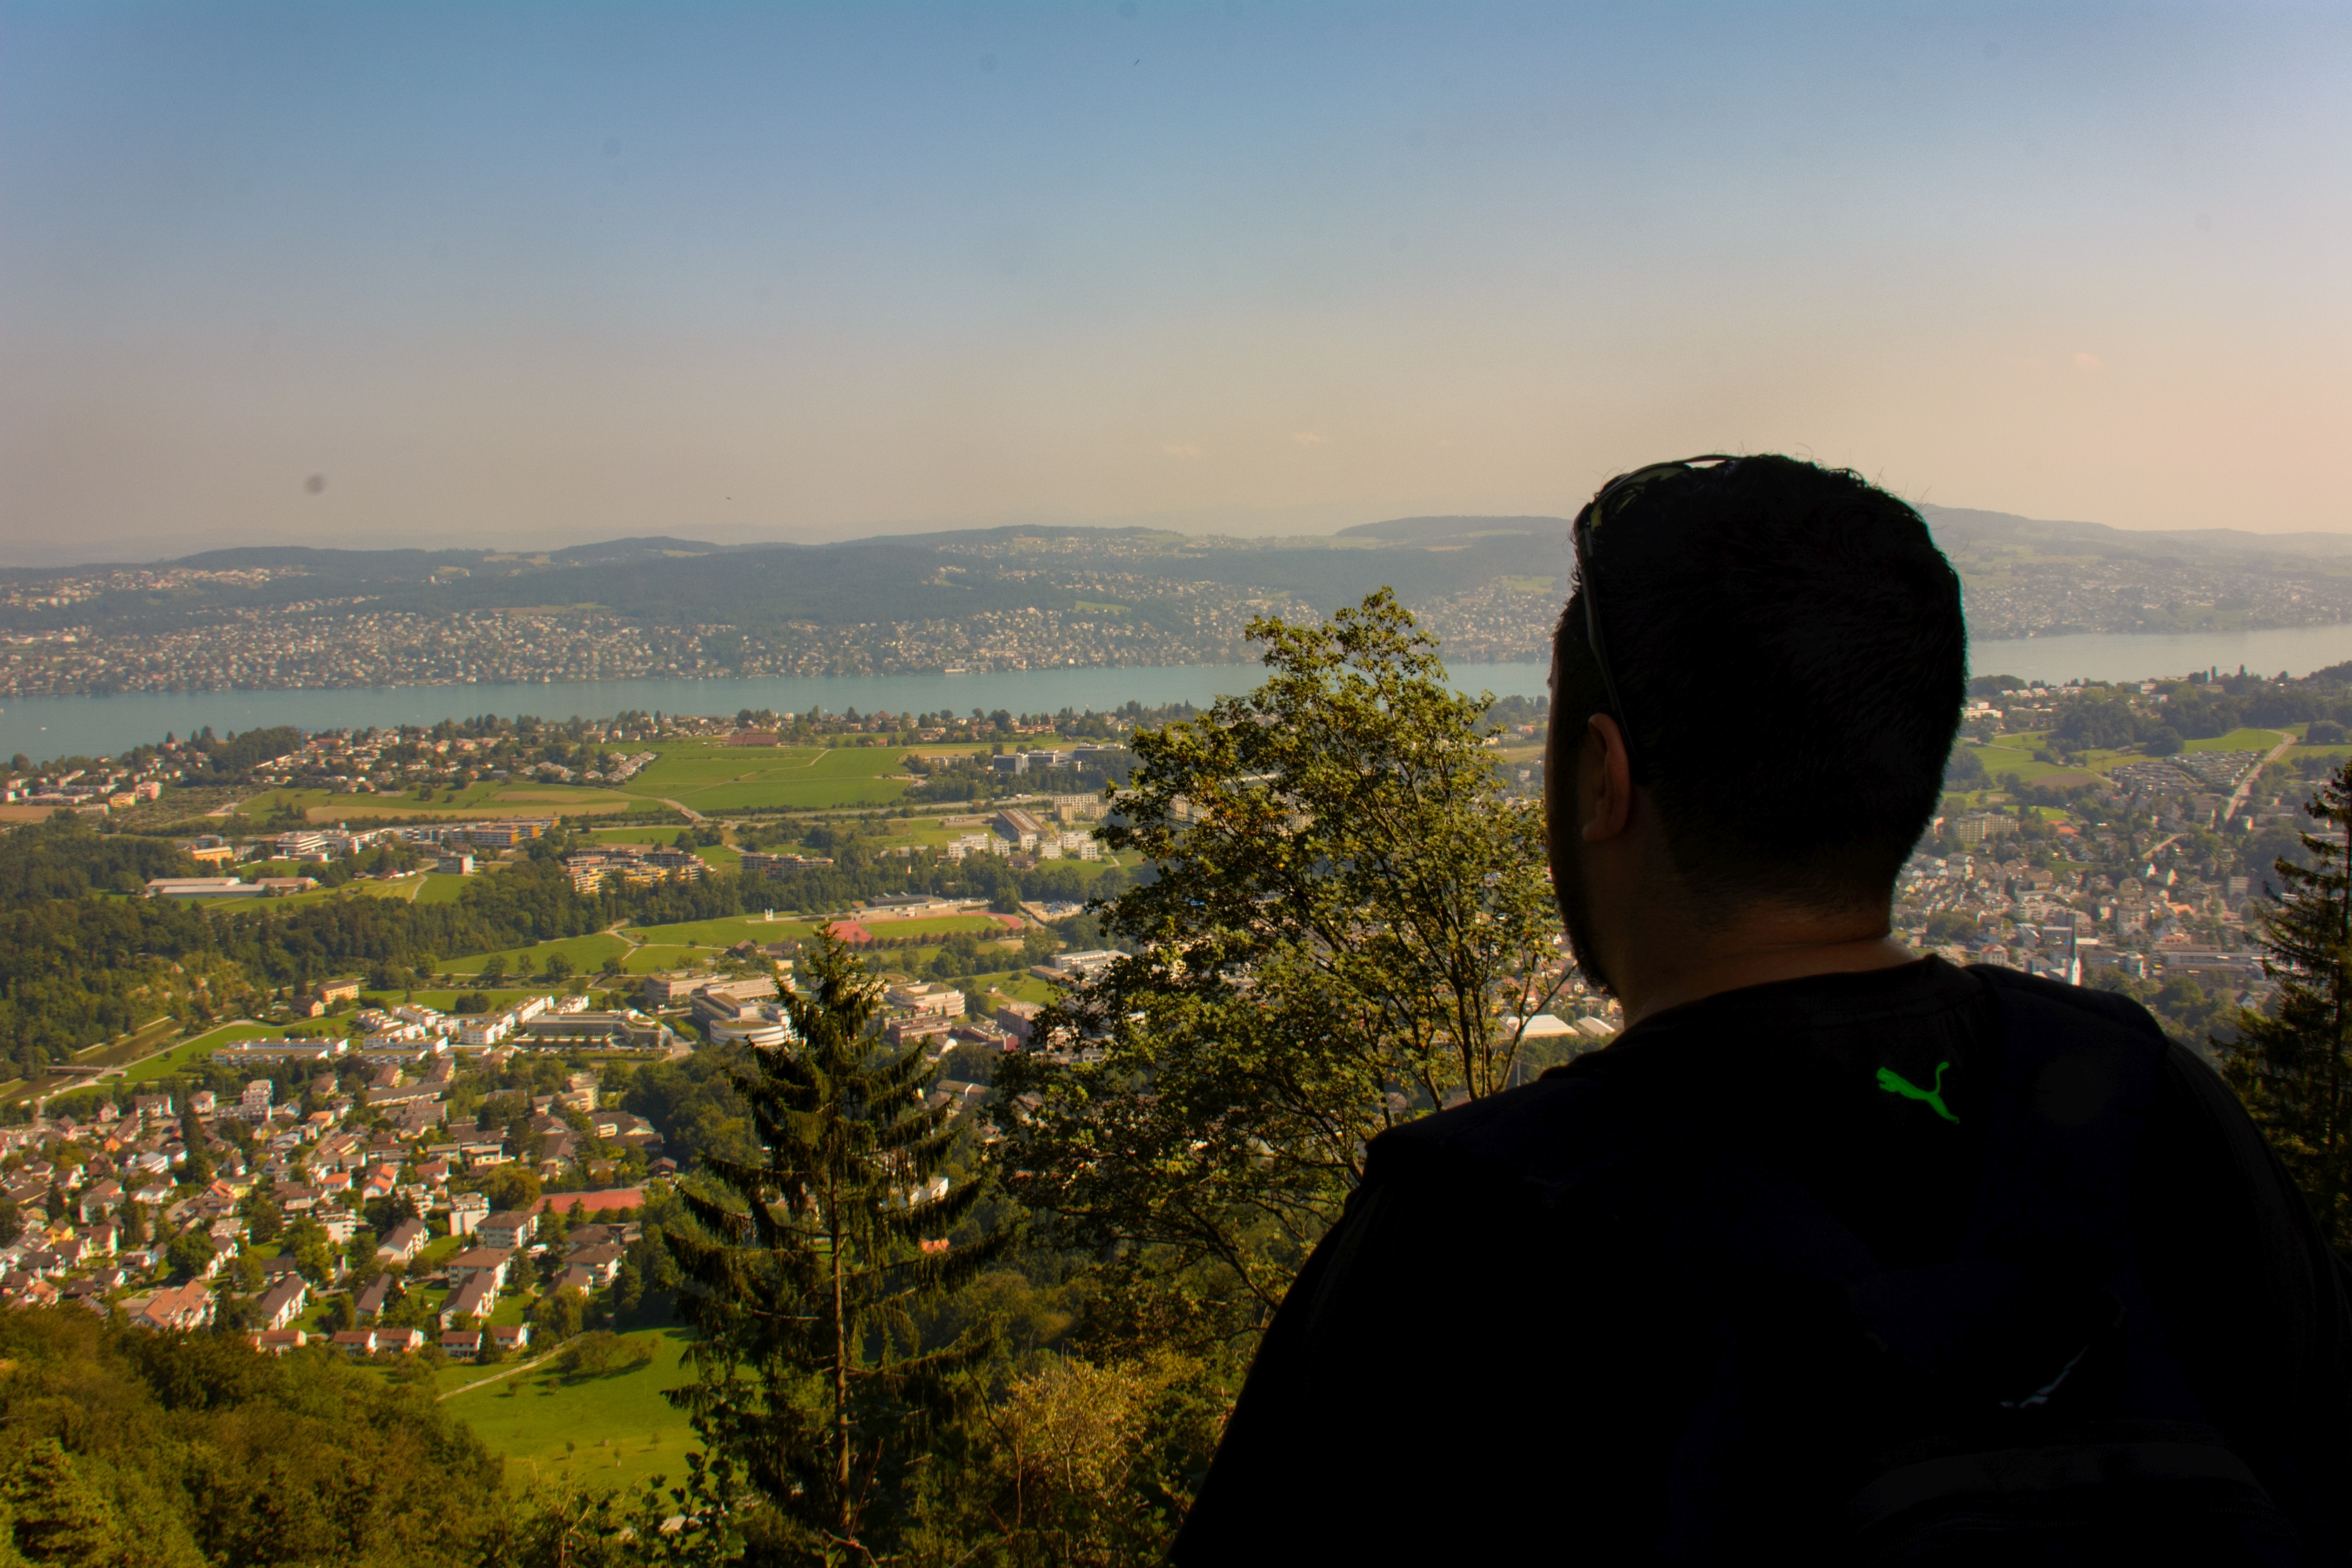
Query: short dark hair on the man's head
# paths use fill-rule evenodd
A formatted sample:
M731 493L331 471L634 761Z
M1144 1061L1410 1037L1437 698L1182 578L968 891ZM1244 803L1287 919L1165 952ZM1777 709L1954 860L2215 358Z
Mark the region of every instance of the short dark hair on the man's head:
M1738 458L1611 503L1590 571L1635 776L1693 891L1884 898L1969 675L1959 576L1919 512L1846 470ZM1611 712L1583 595L1552 637L1552 722L1578 731Z

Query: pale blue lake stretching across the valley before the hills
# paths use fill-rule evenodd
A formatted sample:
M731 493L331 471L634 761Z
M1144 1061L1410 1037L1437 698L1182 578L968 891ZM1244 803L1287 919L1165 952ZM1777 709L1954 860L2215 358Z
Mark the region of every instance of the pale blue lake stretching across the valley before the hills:
M2352 658L2352 625L2296 625L2265 632L2018 637L1980 642L1971 668L2023 679L2154 679L2223 668L2310 675ZM226 733L270 724L343 729L355 724L437 724L477 715L543 719L647 712L1061 712L1124 703L1207 703L1258 684L1258 665L1176 665L1105 670L1002 670L988 675L762 675L748 679L621 679L508 686L346 686L308 691L134 691L125 696L28 696L0 708L0 757L106 757L165 733L205 724ZM1456 665L1465 691L1538 696L1545 665Z

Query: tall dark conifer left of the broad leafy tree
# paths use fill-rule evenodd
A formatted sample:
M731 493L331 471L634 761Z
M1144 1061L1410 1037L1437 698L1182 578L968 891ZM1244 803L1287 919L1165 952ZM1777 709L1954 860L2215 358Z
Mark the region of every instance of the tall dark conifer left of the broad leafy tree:
M934 1190L957 1133L922 1103L922 1048L877 1039L882 987L837 940L809 978L783 999L797 1039L731 1074L762 1157L706 1154L717 1190L684 1192L703 1234L666 1232L699 1373L668 1399L767 1495L793 1554L844 1561L875 1552L908 1443L995 1349L985 1328L924 1347L915 1309L1007 1237L941 1246L983 1187Z

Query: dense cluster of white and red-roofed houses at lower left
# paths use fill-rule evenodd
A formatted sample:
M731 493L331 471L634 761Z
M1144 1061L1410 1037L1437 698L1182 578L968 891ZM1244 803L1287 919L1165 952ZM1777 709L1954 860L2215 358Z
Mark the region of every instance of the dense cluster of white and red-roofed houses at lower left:
M637 1241L647 1180L675 1171L661 1133L602 1105L595 1072L485 1098L524 1046L383 1023L350 1044L223 1046L219 1072L256 1074L233 1098L0 1128L0 1298L223 1324L270 1352L470 1361L524 1349L532 1312L576 1333Z

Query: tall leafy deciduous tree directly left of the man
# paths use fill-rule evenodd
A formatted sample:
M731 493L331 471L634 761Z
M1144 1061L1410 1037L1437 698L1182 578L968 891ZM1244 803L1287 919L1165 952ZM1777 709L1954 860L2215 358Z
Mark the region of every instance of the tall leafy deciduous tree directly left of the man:
M1035 1095L1007 1128L1023 1201L1115 1251L1143 1345L1261 1326L1364 1145L1508 1086L1508 1018L1564 983L1541 816L1411 616L1378 592L1249 632L1258 691L1136 736L1110 842L1160 875L1101 914L1131 957L1040 1020L1101 1060L997 1074Z

